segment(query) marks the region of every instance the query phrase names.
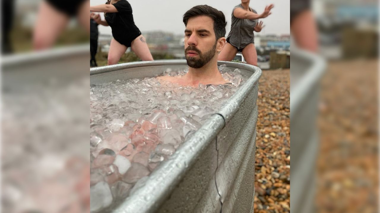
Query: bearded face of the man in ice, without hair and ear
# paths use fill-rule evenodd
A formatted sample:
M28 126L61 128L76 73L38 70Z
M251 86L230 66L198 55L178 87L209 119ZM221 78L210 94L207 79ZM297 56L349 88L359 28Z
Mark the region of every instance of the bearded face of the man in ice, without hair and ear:
M187 65L201 68L216 55L217 41L214 20L208 16L197 16L187 21L185 30L185 57Z

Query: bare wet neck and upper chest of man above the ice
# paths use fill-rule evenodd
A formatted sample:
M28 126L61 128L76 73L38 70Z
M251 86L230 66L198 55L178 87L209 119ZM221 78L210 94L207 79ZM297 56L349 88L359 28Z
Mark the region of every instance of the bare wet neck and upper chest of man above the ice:
M185 77L192 85L199 85L199 83L206 85L215 81L220 81L222 75L218 70L217 59L213 58L201 68L196 69L189 67L189 71Z

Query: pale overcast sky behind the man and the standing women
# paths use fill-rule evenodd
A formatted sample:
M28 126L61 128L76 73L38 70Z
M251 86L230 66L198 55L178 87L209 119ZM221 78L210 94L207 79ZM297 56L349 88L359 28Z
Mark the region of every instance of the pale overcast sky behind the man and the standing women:
M91 5L104 4L106 0L91 0ZM136 26L142 33L145 31L163 30L175 34L184 34L182 22L184 13L196 5L209 5L226 16L226 36L231 28L231 13L240 0L128 0L133 9ZM265 27L256 34L290 34L290 1L289 0L251 0L249 6L259 14L266 5L274 4L272 14L265 19ZM101 13L102 19L103 13ZM112 34L111 27L99 26L101 34Z

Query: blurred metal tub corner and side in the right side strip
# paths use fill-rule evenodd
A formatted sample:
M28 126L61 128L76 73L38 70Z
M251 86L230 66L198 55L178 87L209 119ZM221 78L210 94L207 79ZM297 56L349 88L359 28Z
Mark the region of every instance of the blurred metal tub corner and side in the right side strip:
M315 54L292 50L290 74L291 212L313 212L320 79L325 61Z

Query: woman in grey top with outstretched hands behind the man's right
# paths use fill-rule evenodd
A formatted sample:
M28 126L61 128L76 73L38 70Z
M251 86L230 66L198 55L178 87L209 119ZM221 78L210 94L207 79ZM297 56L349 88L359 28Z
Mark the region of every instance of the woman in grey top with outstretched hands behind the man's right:
M234 7L231 17L231 31L227 36L227 43L218 56L219 61L231 61L239 51L248 64L257 66L257 53L253 43L253 31L260 32L264 27L258 19L271 14L273 4L266 6L261 14L249 7L250 0L241 0L241 4Z

